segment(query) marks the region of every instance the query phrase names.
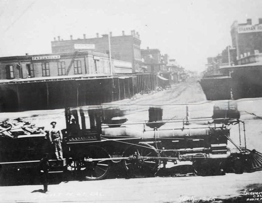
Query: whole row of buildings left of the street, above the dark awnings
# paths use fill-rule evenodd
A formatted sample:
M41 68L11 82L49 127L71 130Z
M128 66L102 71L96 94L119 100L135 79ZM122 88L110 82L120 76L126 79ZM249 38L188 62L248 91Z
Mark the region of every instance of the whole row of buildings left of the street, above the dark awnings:
M131 35L122 31L122 36L112 36L110 32L100 37L96 33L96 38L90 39L85 34L83 39L73 39L71 35L70 40L58 36L51 42L52 54L1 57L0 80L78 74L178 75L178 65L170 64L167 54L149 47L140 49L140 44L139 33L134 30Z

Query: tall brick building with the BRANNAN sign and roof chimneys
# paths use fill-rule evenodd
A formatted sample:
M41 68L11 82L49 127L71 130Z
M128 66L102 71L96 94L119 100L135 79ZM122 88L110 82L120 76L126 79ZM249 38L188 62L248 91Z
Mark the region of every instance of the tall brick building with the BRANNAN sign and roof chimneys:
M246 23L234 21L231 25L232 46L236 47L238 58L252 55L255 50L262 52L262 18L258 19L257 25L252 25L252 19Z

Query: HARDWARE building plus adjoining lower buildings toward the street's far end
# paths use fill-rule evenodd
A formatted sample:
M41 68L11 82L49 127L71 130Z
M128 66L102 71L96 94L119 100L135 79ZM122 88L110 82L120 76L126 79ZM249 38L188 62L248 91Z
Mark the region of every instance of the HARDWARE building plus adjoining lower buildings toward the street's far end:
M131 35L126 35L122 31L122 36L113 36L110 32L109 35L100 37L99 33L96 33L96 38L90 39L86 39L85 34L83 39L73 39L71 35L70 40L60 40L60 36L58 36L57 40L54 38L54 41L51 42L52 53L92 50L109 54L109 50L111 50L114 59L132 63L133 73L166 72L167 54L162 56L159 49L149 49L149 47L141 49L140 45L140 35L135 30L131 30Z

